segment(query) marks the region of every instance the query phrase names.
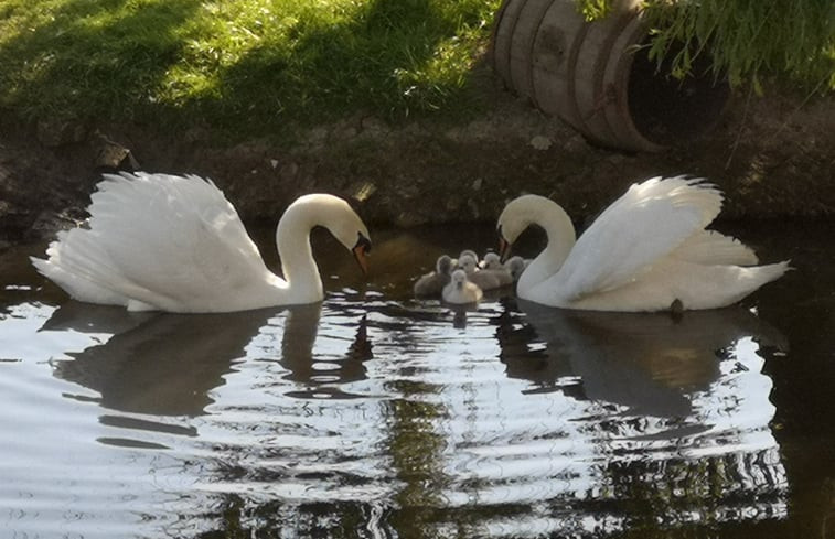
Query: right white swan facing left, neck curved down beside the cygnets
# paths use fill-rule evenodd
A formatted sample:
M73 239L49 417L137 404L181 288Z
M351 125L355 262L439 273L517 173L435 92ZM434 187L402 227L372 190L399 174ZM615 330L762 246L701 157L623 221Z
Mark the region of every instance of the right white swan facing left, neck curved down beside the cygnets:
M698 310L730 305L780 278L788 261L754 266L739 240L705 230L722 195L704 179L653 177L633 184L576 239L553 201L523 195L499 217L500 252L529 225L548 245L524 270L517 295L544 305L595 311Z

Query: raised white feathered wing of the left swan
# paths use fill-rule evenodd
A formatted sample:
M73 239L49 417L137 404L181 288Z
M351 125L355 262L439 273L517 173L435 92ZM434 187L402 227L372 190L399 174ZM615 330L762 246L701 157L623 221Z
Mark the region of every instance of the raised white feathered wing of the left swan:
M90 233L136 300L167 308L267 271L235 208L197 176L109 175L89 211Z

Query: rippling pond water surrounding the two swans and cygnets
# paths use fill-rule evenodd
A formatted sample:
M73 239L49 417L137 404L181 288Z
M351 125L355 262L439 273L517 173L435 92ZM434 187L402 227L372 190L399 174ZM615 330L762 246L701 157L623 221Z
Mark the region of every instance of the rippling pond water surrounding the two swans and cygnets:
M681 319L411 299L489 227L376 231L368 283L317 235L323 304L223 315L7 250L0 537L835 538L835 227L725 230L796 270Z

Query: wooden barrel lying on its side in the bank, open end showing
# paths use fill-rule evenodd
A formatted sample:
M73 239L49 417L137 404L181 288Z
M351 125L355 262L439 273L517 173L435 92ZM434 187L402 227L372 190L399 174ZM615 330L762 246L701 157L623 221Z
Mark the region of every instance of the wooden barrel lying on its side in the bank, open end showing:
M672 80L647 57L639 0L587 22L575 0L504 0L490 57L504 84L590 141L660 151L715 126L729 89L706 65ZM706 62L705 55L702 58Z

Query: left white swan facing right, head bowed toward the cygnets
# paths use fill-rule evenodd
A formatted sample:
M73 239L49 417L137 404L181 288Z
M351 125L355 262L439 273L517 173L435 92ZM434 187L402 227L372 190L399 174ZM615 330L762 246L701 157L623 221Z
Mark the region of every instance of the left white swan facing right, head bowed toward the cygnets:
M196 175L105 174L86 228L58 233L32 263L72 298L129 311L220 313L315 303L324 298L310 247L323 226L363 272L368 230L333 195L296 200L276 229L283 279L269 271L235 208Z

